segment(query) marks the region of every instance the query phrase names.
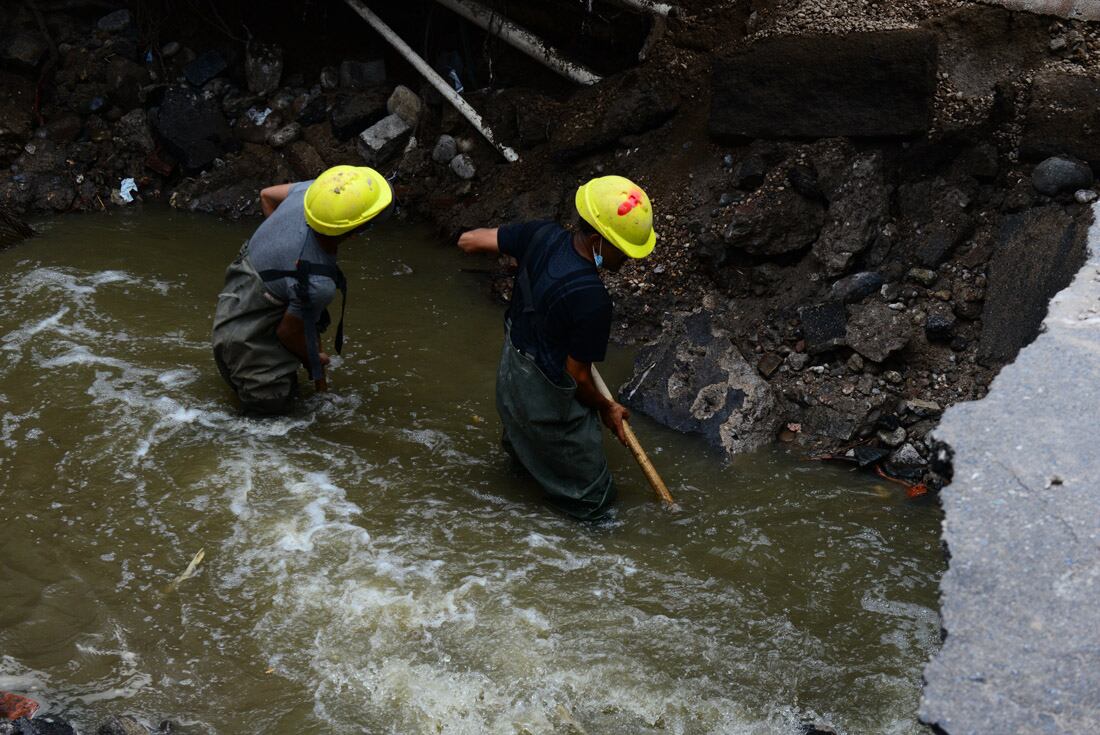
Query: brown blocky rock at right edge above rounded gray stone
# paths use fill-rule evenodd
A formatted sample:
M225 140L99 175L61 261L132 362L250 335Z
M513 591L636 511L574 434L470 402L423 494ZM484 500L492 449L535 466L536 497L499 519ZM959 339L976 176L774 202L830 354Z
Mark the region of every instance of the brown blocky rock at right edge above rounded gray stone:
M1047 70L1035 75L1020 154L1032 161L1068 154L1100 166L1100 78Z

